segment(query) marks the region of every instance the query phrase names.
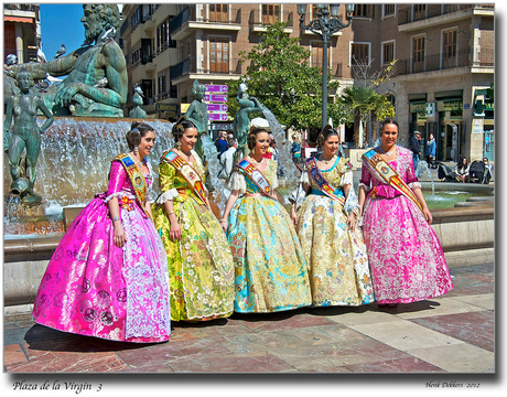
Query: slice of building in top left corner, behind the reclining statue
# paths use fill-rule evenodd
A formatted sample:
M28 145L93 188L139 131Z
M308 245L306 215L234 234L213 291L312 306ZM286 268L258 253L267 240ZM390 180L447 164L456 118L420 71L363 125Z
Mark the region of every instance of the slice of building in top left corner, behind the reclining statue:
M3 60L14 54L18 63L36 62L40 42L39 4L3 4Z

